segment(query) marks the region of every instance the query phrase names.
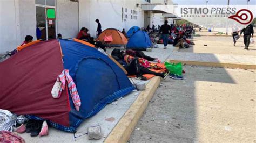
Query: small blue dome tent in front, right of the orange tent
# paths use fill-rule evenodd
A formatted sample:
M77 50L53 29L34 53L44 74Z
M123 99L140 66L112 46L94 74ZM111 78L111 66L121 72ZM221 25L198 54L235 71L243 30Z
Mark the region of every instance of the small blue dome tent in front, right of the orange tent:
M126 49L138 51L146 51L146 49L150 47L152 47L150 37L145 31L142 30L134 33L126 45Z

